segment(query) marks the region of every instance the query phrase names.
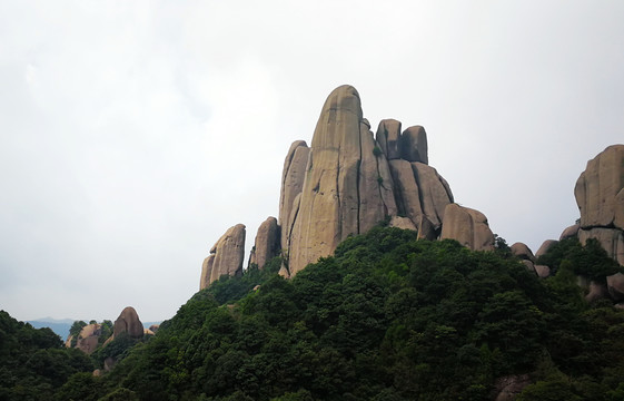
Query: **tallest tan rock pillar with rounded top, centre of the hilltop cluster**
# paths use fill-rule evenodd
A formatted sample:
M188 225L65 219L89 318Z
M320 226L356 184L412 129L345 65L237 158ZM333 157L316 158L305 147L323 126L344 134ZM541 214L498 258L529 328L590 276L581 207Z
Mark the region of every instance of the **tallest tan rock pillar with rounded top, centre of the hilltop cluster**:
M387 159L375 151L369 128L354 87L341 86L329 95L287 234L290 274L329 255L349 234L364 233L396 214Z

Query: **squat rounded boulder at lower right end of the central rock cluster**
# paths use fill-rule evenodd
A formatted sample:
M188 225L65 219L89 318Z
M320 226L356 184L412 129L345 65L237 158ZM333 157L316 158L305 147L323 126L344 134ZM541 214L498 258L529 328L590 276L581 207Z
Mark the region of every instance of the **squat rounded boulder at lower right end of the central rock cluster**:
M456 239L473 251L494 250L494 234L485 215L457 204L449 204L444 211L440 238Z

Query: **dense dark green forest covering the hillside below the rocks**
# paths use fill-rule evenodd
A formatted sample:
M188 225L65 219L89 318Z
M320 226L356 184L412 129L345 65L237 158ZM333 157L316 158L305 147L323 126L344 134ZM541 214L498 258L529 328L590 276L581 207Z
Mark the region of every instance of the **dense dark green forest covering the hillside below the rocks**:
M521 401L624 399L624 311L587 303L576 284L621 270L595 242L561 242L541 280L502 238L472 252L415 236L374 228L293 280L279 258L221 277L156 336L116 340L91 362L40 340L16 351L4 339L28 327L3 314L0 400L26 400L16 394L29 385L49 391L33 400L492 400L513 374L533 383ZM73 370L29 368L40 352L67 353ZM108 354L116 368L90 374Z

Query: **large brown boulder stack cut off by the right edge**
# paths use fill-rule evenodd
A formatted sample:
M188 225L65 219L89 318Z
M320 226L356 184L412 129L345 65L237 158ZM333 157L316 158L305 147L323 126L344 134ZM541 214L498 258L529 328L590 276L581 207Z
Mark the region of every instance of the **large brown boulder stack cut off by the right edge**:
M581 212L581 243L598 239L624 265L624 145L610 146L587 162L574 195Z

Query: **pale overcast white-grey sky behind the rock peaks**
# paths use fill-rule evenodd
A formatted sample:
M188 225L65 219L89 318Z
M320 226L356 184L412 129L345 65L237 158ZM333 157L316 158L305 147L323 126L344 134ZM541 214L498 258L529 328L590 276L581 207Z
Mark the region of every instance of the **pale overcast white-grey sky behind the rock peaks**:
M455 200L535 252L624 143L622 1L0 0L0 309L171 317L277 216L329 92L425 127Z

